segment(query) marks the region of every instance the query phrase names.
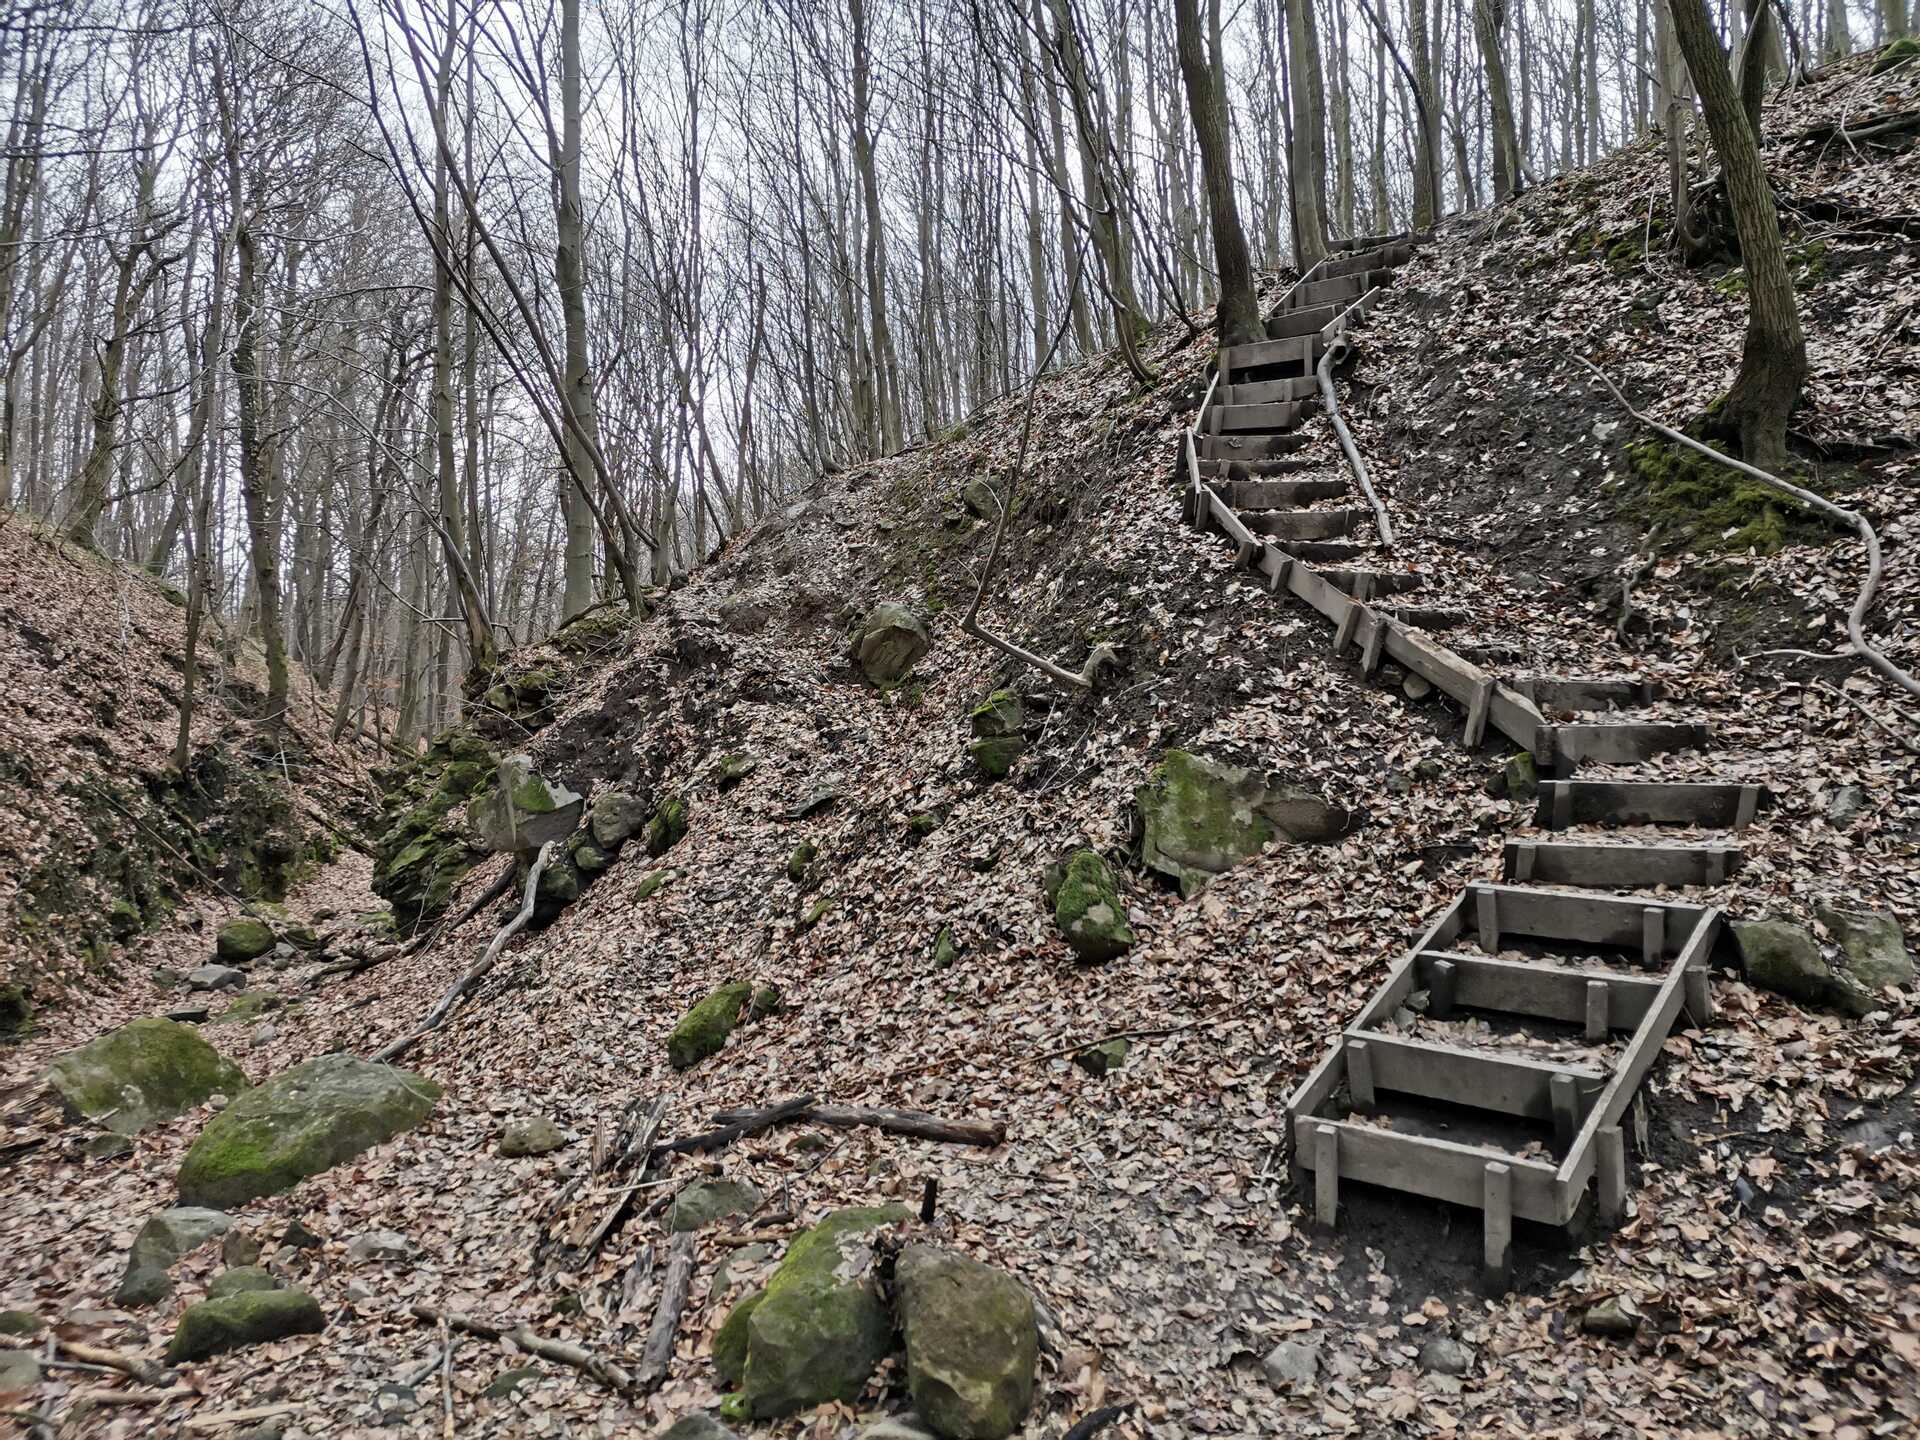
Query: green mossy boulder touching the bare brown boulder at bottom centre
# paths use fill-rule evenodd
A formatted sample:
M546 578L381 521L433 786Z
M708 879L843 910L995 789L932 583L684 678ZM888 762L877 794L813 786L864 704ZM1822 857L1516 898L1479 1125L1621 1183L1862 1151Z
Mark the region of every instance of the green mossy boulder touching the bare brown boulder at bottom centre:
M793 1238L764 1292L741 1302L751 1306L741 1365L749 1415L774 1419L860 1394L893 1348L874 1235L906 1217L904 1206L835 1210Z

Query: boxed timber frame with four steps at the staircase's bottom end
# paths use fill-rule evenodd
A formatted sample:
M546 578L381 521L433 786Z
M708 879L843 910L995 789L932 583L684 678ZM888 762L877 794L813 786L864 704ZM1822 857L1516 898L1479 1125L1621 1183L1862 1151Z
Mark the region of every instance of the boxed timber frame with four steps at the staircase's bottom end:
M1620 1117L1682 1008L1697 1025L1711 1020L1707 956L1718 927L1720 912L1711 906L1647 904L1509 885L1475 885L1455 897L1286 1100L1292 1169L1302 1187L1308 1175L1313 1177L1315 1219L1327 1227L1338 1223L1342 1183L1476 1206L1484 1217L1486 1284L1496 1294L1511 1283L1515 1219L1565 1227L1578 1213L1588 1185L1597 1179L1599 1217L1617 1225L1626 1208ZM1484 954L1450 952L1448 947L1469 933ZM1663 970L1655 977L1500 960L1501 935L1638 945ZM1428 1010L1438 1018L1455 1006L1471 1006L1578 1020L1588 1035L1630 1029L1630 1039L1619 1064L1599 1073L1380 1035L1379 1023L1423 987ZM1356 1044L1361 1048L1356 1050ZM1419 1064L1407 1062L1409 1044L1419 1046ZM1357 1108L1356 1062L1369 1069L1357 1089L1375 1104L1380 1091L1394 1089L1394 1083L1415 1085L1419 1089L1407 1092L1427 1098L1498 1114L1534 1117L1544 1104L1565 1154L1548 1164L1496 1146L1379 1129L1327 1114L1342 1085Z

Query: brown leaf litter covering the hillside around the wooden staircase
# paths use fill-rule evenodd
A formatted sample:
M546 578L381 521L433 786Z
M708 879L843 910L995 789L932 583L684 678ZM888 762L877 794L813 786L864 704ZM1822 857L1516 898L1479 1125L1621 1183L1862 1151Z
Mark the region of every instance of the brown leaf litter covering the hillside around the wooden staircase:
M1860 77L1855 63L1809 86L1772 111L1772 129L1920 108L1912 81L1876 88ZM1788 163L1782 146L1774 159ZM1805 184L1789 165L1795 194L1818 179L1878 217L1920 192L1910 146L1826 146L1809 165ZM1572 380L1565 357L1590 348L1661 415L1684 417L1724 384L1741 313L1732 296L1703 309L1713 280L1657 253L1632 265L1561 253L1572 228L1644 215L1657 175L1659 156L1642 148L1452 225L1409 271L1405 294L1361 330L1356 378L1373 396L1361 444L1400 459L1386 467L1388 503L1407 532L1407 563L1442 595L1475 597L1480 620L1461 645L1517 668L1665 680L1678 697L1670 708L1718 730L1711 755L1667 768L1776 791L1778 806L1745 837L1745 868L1705 900L1743 918L1807 920L1814 900L1845 899L1920 933L1910 705L1855 664L1741 662L1740 647L1711 643L1741 624L1740 595L1701 588L1690 553L1663 553L1636 589L1659 624L1615 639L1620 566L1640 543L1603 480L1624 474L1632 428ZM1907 438L1905 449L1849 465L1860 476L1855 503L1887 543L1889 603L1872 628L1912 664L1920 265L1910 242L1885 234L1830 244L1870 248L1874 259L1818 280L1853 284L1855 301L1812 292L1807 424L1828 438ZM1548 252L1553 259L1540 259ZM1534 300L1505 278L1528 265L1546 286ZM1609 349L1605 326L1640 301L1663 323ZM1553 305L1578 307L1590 328ZM1137 1409L1108 1434L1912 1432L1920 1008L1910 998L1853 1021L1716 973L1716 1023L1676 1031L1645 1085L1628 1223L1574 1244L1523 1231L1507 1296L1478 1290L1473 1212L1359 1196L1338 1233L1309 1229L1309 1200L1286 1181L1288 1091L1427 918L1465 881L1498 874L1501 839L1530 833L1532 806L1488 793L1503 755L1463 751L1457 714L1361 680L1329 655L1317 616L1233 572L1217 536L1179 524L1175 436L1210 357L1210 346L1164 332L1154 390L1091 365L1037 392L1018 540L983 620L1068 666L1094 641L1121 643L1127 664L1096 701L1048 703L1020 678L1037 724L1004 783L981 783L964 749L970 708L1012 672L958 628L989 530L958 492L987 478L1004 493L1023 397L947 444L824 480L639 626L632 651L570 699L532 755L580 789L637 772L682 789L687 837L660 862L622 854L409 1052L405 1064L445 1087L426 1125L246 1208L242 1223L267 1242L263 1263L319 1296L323 1334L190 1367L204 1400L96 1411L77 1432L173 1434L196 1409L248 1405L288 1405L271 1421L286 1434L436 1430L440 1336L409 1315L417 1302L628 1350L657 1281L626 1292L624 1279L664 1248L664 1225L643 1212L589 1267L547 1269L534 1238L564 1181L636 1098L668 1096L666 1133L685 1135L720 1110L803 1092L1000 1119L1008 1139L970 1150L785 1127L707 1162L682 1156L668 1179L720 1169L756 1183L770 1210L795 1217L768 1229L772 1240L835 1206L918 1202L937 1179L933 1229L1016 1273L1052 1317L1058 1344L1031 1436L1058 1436L1123 1400ZM1523 420L1534 428L1519 432ZM1536 461L1513 459L1523 442ZM1331 442L1317 444L1336 465ZM1791 597L1805 616L1799 645L1832 649L1860 563L1853 541L1814 536L1715 564ZM1582 572L1605 580L1580 584ZM889 595L933 612L935 647L918 684L877 695L847 664L843 614L849 601L864 609ZM1133 789L1175 745L1256 762L1363 810L1365 824L1325 847L1271 847L1192 900L1123 872L1139 943L1106 966L1075 966L1041 872L1077 845L1123 856ZM755 756L758 770L722 791L714 766L730 753ZM1859 793L1841 804L1841 787ZM916 839L906 820L927 810L941 824ZM787 879L801 841L820 847L810 891ZM637 899L657 864L674 879ZM493 877L476 870L461 900ZM290 910L363 908L363 885L365 862L348 856ZM804 924L820 899L831 908ZM236 1035L223 1048L253 1079L336 1048L371 1054L470 964L503 906L361 975L307 987L288 972L280 983L298 1008L276 1014L271 1037ZM941 929L958 943L950 968L935 964ZM40 1033L0 1052L0 1083L29 1085L61 1048L165 1010L169 993L132 975L205 950L205 935L186 929L132 947L121 989L50 1012ZM778 983L787 1014L672 1071L668 1029L735 977ZM1123 1069L1094 1077L1068 1060L1114 1033L1135 1035ZM530 1116L555 1119L572 1144L501 1158L503 1123ZM188 1260L175 1298L154 1309L121 1311L109 1296L140 1217L171 1204L204 1119L142 1133L113 1162L84 1158L81 1137L61 1133L0 1171L0 1308L61 1317L75 1336L123 1350L163 1340L215 1256ZM282 1244L294 1219L323 1244ZM371 1231L405 1235L411 1254L355 1261L348 1246ZM488 1394L524 1357L457 1344L445 1371L455 1432L651 1434L712 1405L722 1392L707 1359L712 1331L776 1258L778 1246L703 1240L672 1373L643 1402L551 1365L511 1394ZM1582 1327L1605 1298L1640 1311L1634 1336ZM1463 1375L1421 1365L1434 1336L1471 1350ZM1313 1379L1269 1375L1261 1361L1281 1342L1317 1350ZM42 1390L69 1379L92 1377ZM889 1363L860 1405L755 1432L858 1434L904 1404Z

